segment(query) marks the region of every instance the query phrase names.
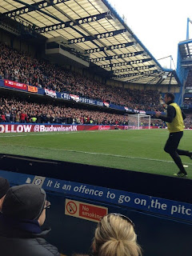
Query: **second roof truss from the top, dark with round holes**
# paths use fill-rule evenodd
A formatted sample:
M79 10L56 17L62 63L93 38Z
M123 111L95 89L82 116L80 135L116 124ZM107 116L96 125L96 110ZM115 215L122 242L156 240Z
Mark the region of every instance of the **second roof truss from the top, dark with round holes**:
M58 24L54 24L54 25L50 25L50 26L43 26L43 27L37 28L35 30L38 33L45 33L45 32L52 31L52 30L60 30L60 29L66 28L66 27L83 25L86 23L98 21L102 18L106 18L106 14L107 13L96 14L93 16L85 17L85 18L78 18L74 21L60 22Z

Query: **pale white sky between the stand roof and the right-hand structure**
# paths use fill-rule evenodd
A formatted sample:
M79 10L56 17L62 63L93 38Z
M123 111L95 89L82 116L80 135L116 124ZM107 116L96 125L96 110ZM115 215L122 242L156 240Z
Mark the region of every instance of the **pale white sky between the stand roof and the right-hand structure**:
M177 66L178 42L186 40L187 18L192 20L192 0L108 0L126 24L158 62L174 69ZM189 26L192 37L192 24Z

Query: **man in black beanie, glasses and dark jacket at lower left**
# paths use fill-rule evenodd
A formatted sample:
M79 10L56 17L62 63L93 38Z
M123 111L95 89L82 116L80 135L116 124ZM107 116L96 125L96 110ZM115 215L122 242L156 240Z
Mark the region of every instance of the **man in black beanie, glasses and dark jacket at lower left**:
M25 184L12 186L6 193L0 215L1 256L59 256L58 249L44 239L50 231L41 230L46 220L46 192Z

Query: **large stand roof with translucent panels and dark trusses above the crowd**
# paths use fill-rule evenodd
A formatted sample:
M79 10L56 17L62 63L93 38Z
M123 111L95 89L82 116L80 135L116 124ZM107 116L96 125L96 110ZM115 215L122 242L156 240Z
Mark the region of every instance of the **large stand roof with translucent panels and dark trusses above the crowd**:
M5 0L0 12L2 20L12 18L46 38L62 36L68 49L78 46L110 78L180 85L176 72L160 66L106 0Z

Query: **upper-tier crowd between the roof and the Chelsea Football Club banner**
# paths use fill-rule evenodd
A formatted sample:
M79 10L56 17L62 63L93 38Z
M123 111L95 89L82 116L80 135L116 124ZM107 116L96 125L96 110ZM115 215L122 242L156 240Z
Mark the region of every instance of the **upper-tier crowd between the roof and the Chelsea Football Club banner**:
M58 92L78 94L135 110L163 110L159 103L158 90L130 90L106 86L62 66L32 58L5 44L0 43L0 47L0 78Z

